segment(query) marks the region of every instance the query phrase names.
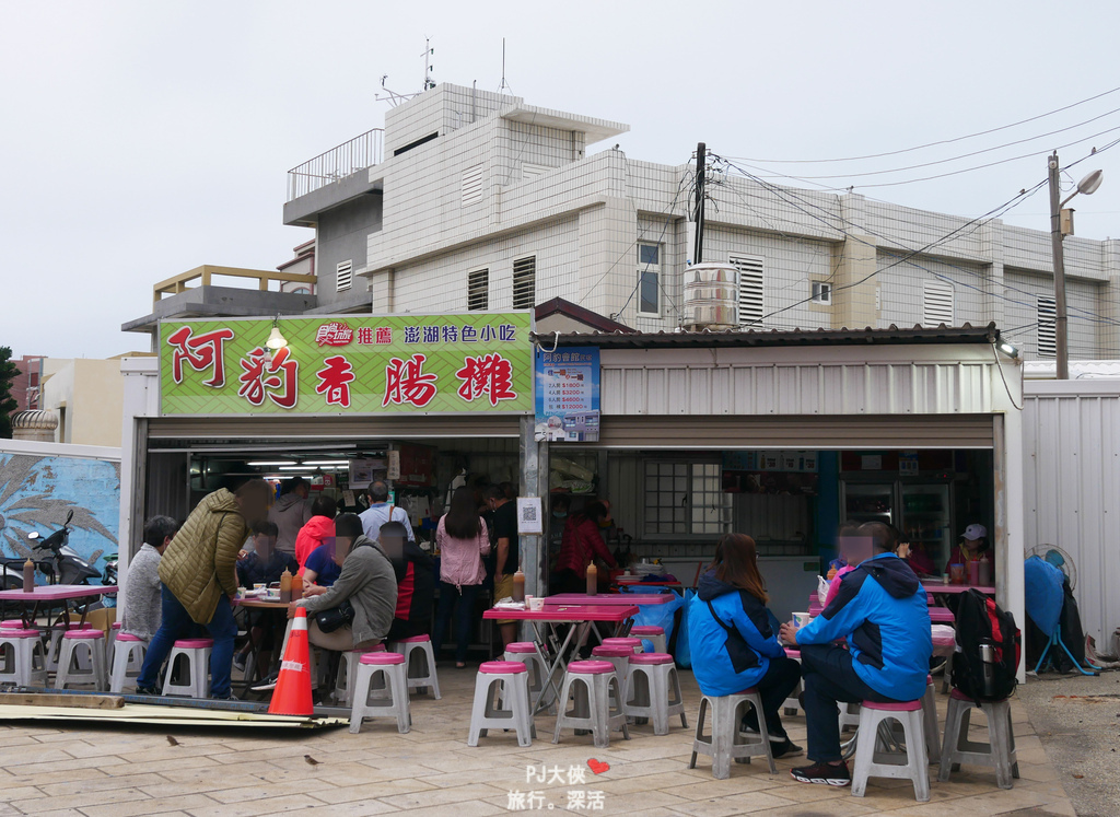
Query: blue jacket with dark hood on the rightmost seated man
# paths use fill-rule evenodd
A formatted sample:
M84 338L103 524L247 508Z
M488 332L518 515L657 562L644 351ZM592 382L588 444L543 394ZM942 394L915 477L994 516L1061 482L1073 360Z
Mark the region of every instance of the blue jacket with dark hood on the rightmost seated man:
M852 667L867 686L895 700L925 695L933 635L925 588L894 554L862 561L840 579L836 598L797 631L799 644L847 638Z

